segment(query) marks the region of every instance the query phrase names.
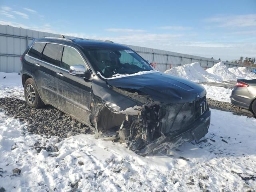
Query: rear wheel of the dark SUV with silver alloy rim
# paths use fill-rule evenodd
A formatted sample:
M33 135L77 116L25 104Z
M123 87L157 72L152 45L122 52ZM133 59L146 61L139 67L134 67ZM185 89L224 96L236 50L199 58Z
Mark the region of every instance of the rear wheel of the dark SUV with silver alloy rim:
M25 82L24 95L28 106L33 108L41 108L44 106L44 102L42 102L36 84L32 78L28 78Z

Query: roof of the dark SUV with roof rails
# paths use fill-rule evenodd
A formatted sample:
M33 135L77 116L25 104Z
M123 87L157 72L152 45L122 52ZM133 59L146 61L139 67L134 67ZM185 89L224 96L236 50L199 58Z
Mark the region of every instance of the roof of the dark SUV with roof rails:
M92 48L118 48L118 49L128 49L127 46L114 43L108 40L92 40L92 39L82 39L82 38L38 38L35 39L35 42L56 42L56 43L64 43L67 45L78 45L84 49L92 49Z

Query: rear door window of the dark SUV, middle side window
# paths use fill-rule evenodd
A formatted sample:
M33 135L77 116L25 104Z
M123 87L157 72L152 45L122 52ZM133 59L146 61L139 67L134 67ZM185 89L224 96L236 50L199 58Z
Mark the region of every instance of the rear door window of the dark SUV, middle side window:
M47 43L42 54L42 61L60 67L60 56L62 55L63 45Z

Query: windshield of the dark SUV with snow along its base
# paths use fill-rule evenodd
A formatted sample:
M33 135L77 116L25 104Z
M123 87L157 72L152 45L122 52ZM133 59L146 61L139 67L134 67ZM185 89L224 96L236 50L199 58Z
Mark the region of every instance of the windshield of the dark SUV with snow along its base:
M148 62L132 50L90 49L84 50L84 54L94 70L105 78L153 70Z

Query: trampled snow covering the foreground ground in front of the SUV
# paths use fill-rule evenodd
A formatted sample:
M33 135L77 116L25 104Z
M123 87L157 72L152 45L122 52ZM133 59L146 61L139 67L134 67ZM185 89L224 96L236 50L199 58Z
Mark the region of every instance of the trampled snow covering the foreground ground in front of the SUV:
M28 134L26 124L0 112L0 187L6 191L69 191L70 183L78 182L80 191L200 191L201 182L211 191L244 191L256 188L256 182L246 184L234 172L256 174L255 124L254 118L212 110L205 138L215 135L215 142L185 143L168 154L144 158L125 144L94 135L71 136L56 143L55 137ZM55 144L59 151L51 154L58 156L49 156L46 150L37 154L36 142ZM17 148L11 150L15 143ZM14 168L21 170L20 176L11 176ZM187 184L192 179L195 185Z

